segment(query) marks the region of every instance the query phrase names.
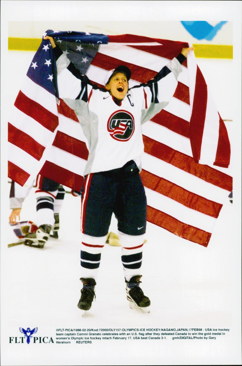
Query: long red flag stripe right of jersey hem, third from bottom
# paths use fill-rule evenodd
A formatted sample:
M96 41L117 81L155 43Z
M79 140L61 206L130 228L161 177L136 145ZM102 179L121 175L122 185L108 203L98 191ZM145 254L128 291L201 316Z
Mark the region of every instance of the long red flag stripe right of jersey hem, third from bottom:
M193 158L183 154L161 142L155 141L150 137L143 135L145 153L157 157L166 163L182 169L208 183L212 183L217 187L232 191L232 177L217 171L208 165L197 164Z

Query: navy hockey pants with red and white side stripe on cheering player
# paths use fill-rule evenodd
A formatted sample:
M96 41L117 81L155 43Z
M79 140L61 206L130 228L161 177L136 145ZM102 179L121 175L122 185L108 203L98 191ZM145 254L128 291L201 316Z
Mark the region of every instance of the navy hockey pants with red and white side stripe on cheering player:
M145 233L146 195L133 160L122 168L86 175L81 196L83 234L107 235L112 213L118 220L119 231L128 235Z

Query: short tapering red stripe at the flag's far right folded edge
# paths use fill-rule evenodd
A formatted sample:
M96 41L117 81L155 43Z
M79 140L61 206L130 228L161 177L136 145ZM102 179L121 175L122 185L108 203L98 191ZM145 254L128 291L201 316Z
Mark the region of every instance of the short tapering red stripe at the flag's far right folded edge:
M230 140L226 126L219 114L219 141L217 144L216 158L213 165L228 168L230 164Z

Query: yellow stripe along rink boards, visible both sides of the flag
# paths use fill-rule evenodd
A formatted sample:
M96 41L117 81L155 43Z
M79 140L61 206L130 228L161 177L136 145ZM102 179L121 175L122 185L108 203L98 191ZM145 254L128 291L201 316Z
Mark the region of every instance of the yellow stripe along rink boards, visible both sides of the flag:
M16 51L37 51L41 38L8 38L8 49ZM196 57L209 59L232 59L233 46L193 44Z

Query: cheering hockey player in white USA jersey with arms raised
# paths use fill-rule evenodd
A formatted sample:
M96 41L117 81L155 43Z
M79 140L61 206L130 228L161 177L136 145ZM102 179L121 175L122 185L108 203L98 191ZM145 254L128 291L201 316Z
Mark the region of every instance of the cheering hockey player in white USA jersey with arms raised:
M67 68L80 80L75 99L61 97L75 111L89 145L81 189L83 288L78 307L86 311L92 305L101 251L114 213L129 305L149 312L150 300L139 287L146 231L146 196L139 176L144 152L141 124L168 105L182 71L180 64L192 48L183 48L154 79L130 89L130 69L118 66L107 72L105 89L101 89L81 75L52 37L44 39L54 50L57 74Z

